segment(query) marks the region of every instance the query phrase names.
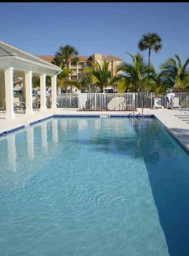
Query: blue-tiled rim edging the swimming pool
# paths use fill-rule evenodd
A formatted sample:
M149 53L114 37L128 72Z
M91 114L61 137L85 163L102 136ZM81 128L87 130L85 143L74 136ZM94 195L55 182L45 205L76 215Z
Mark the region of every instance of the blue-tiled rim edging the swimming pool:
M35 123L38 123L38 122L41 122L41 121L44 121L46 119L50 119L50 118L156 118L160 123L161 125L163 125L163 128L167 131L167 133L169 133L169 135L174 138L174 140L176 140L176 142L182 147L182 149L189 155L189 148L182 143L182 141L180 141L176 135L174 133L172 133L172 131L170 131L170 129L168 127L166 127L166 125L154 114L149 114L149 115L141 115L141 114L136 114L134 117L133 117L133 114L127 114L127 115L106 115L106 114L98 114L98 115L94 115L94 114L78 114L78 115L73 115L73 114L52 114L50 116L47 116L45 118L38 118L34 121L31 121L31 122L25 122L25 123L22 123L22 125L17 125L16 127L13 127L13 128L10 128L10 129L6 129L6 130L3 130L0 132L0 137L2 137L3 135L7 135L9 133L12 133L14 131L17 131L19 129L24 129L24 128L27 128L27 127L30 127L30 125L34 125Z

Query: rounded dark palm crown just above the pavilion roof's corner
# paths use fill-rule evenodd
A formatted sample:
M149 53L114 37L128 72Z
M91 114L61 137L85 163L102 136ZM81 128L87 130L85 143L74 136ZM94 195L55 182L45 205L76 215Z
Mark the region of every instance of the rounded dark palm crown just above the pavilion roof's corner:
M55 53L53 62L61 68L64 68L65 66L68 68L70 62L73 65L78 64L79 58L77 56L78 51L75 47L67 44L59 47L59 51Z

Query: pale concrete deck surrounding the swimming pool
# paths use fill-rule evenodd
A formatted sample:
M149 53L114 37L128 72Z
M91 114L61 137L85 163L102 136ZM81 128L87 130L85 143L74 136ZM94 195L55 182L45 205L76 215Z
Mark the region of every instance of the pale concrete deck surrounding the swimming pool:
M187 109L144 109L144 115L154 115L159 121L168 129L184 147L189 151L189 121L182 121L182 118L178 118L176 115L183 115L183 111L189 111ZM137 108L135 115L141 115L141 108ZM23 127L29 123L48 118L52 115L133 115L130 111L78 111L77 108L57 108L56 110L47 110L44 112L34 112L32 115L15 114L15 119L3 119L4 114L0 113L0 135L6 131L13 130L17 127ZM186 119L183 117L183 119Z

